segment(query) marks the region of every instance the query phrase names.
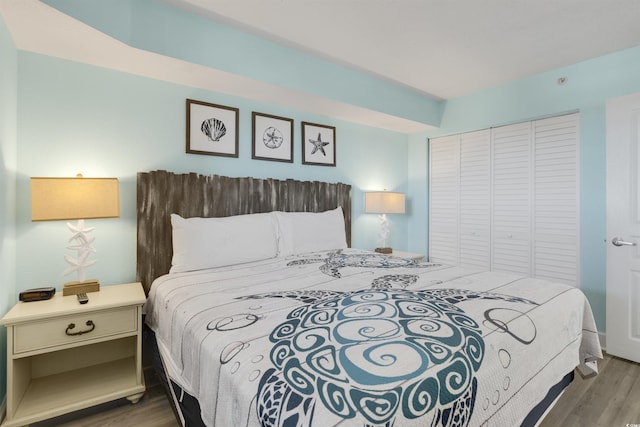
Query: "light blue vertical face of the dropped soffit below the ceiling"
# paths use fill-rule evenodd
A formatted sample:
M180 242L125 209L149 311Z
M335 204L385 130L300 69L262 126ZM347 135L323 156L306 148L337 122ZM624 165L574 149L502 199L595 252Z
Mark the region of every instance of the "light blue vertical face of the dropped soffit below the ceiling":
M440 101L158 0L45 3L130 46L416 122L440 122Z

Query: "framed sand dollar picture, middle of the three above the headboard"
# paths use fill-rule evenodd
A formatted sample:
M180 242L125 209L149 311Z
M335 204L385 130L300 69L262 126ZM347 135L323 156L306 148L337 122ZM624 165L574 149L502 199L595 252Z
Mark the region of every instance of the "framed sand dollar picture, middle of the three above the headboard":
M251 158L293 163L293 120L269 114L251 114Z

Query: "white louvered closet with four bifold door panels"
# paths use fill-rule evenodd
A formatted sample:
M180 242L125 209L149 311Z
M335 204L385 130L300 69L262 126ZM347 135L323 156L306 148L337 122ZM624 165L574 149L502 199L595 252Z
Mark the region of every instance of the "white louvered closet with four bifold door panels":
M579 115L429 140L429 259L579 283Z

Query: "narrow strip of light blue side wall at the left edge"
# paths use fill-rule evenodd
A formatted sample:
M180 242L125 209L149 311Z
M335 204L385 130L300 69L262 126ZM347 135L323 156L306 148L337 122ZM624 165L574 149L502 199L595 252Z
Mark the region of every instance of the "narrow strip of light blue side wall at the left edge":
M18 54L0 18L0 313L16 295L16 145ZM6 329L0 328L0 400L6 393Z

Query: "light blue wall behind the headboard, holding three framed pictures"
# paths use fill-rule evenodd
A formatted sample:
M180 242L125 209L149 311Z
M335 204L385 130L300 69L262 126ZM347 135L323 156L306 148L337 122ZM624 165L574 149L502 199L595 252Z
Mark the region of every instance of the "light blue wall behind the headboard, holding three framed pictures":
M29 177L120 179L121 218L94 220L102 283L135 279L135 175L168 169L229 176L341 181L353 185L353 246L376 245L377 218L363 214L365 190L407 191L407 136L252 100L165 83L43 55L19 53L17 231L19 289L58 286L69 231L63 222L32 223ZM240 156L185 153L185 99L240 109ZM251 112L289 117L294 163L251 159ZM336 127L337 167L301 164L300 121ZM392 219L391 244L405 247L408 215ZM66 280L73 280L69 277Z

